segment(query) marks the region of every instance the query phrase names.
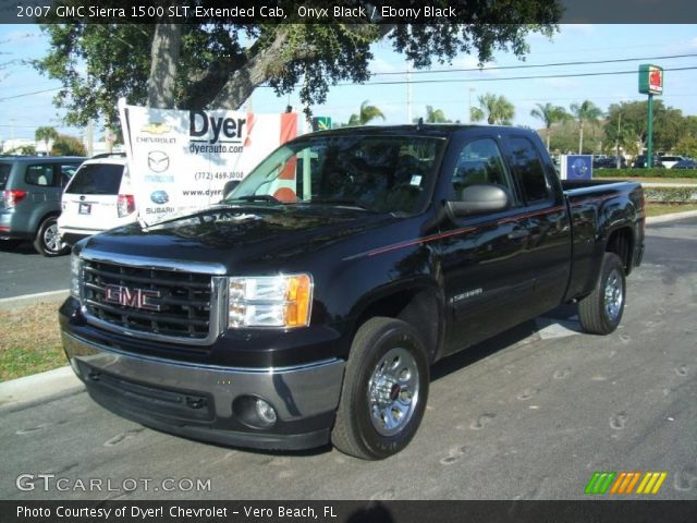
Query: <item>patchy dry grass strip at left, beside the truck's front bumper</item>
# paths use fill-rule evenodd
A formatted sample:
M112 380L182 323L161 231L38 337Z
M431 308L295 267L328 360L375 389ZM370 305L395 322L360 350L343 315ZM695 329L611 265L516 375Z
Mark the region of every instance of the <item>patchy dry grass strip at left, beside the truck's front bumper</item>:
M59 305L0 311L0 381L66 365L58 327Z

